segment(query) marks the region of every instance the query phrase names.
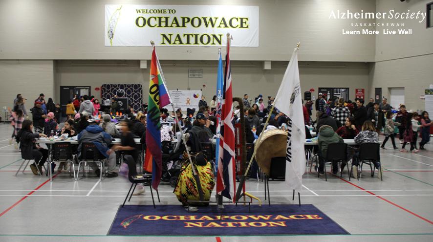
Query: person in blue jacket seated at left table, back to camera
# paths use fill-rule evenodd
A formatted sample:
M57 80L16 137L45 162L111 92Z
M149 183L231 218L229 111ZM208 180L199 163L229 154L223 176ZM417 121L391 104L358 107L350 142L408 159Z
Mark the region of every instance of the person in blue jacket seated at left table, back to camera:
M91 122L85 130L78 134L78 152L81 155L81 144L82 143L93 143L95 144L98 151L103 154L108 160L108 173L106 177L116 177L116 153L111 152L108 146L111 144L111 135L104 132L102 127L99 127L96 122ZM89 162L89 166L95 171L96 175L99 176L100 170L94 162Z

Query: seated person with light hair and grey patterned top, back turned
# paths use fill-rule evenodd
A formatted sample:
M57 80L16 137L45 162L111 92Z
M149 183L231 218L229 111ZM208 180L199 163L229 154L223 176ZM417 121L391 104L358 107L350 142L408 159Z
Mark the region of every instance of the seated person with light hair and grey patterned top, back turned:
M358 133L358 135L355 136L354 141L356 144L364 144L364 143L379 143L379 134L376 132L376 128L374 127L374 124L370 120L366 120L364 124L362 125L362 131ZM354 177L358 177L358 153L355 153L353 159L352 159L352 174ZM382 170L383 168L379 166L379 162L374 162L374 166L376 169ZM382 170L383 171L383 170ZM377 173L377 177L380 179L381 175L380 172Z

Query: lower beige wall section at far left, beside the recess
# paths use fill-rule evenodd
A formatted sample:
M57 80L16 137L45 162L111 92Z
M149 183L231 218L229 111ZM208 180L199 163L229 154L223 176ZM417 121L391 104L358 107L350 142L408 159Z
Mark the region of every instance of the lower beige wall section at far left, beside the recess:
M17 94L21 93L28 99L25 107L29 110L39 93L43 92L47 98L53 96L53 61L0 60L0 83L0 107L12 107Z

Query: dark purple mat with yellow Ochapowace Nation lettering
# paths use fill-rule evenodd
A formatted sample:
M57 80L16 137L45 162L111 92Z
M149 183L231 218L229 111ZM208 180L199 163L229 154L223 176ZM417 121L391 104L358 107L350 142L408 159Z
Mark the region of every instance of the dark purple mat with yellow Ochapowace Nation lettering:
M314 205L226 205L188 212L180 205L119 206L108 235L348 234Z

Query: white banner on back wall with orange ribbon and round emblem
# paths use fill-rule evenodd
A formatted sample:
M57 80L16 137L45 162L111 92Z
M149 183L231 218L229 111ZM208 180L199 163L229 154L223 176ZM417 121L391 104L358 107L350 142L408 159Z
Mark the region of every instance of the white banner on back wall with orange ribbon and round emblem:
M201 99L201 90L169 90L169 93L176 110L181 109L182 113L186 113L188 108L198 111L198 102ZM171 105L168 105L165 108L172 111Z

